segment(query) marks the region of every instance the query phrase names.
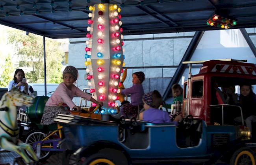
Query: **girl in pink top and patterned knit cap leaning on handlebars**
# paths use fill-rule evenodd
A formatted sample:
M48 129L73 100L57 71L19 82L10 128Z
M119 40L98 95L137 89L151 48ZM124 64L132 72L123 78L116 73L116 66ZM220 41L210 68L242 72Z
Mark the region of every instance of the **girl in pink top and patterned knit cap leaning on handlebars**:
M57 89L45 104L45 111L41 119L42 125L52 124L54 122L53 119L58 114L70 114L68 111L69 108L81 111L81 107L76 106L74 102L72 102L74 95L80 96L86 100L90 100L91 102L95 102L96 104L103 106L102 102L98 102L92 98L91 95L84 93L73 84L77 80L78 76L78 71L75 67L67 66L62 75L63 82L59 84Z

